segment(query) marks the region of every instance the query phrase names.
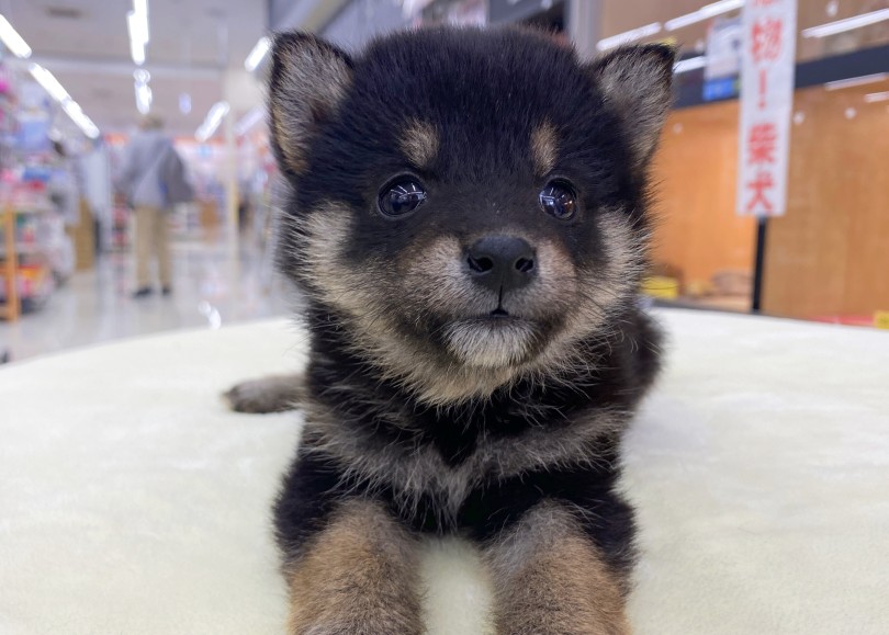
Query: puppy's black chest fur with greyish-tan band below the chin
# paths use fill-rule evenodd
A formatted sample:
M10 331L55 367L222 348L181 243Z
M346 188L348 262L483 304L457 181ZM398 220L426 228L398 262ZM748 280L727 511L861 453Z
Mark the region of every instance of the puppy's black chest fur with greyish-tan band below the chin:
M632 410L614 384L590 378L581 389L519 384L483 402L429 408L342 374L317 375L326 386L310 399L304 460L334 470L339 495L381 497L437 533L484 534L495 508L520 512L522 500L571 498L575 484L610 485Z

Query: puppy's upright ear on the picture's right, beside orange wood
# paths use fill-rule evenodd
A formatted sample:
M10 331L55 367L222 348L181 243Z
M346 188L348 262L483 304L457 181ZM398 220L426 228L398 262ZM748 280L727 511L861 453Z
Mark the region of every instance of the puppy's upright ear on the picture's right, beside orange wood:
M644 167L673 102L676 49L664 44L626 46L589 66L605 102L621 117L637 168Z

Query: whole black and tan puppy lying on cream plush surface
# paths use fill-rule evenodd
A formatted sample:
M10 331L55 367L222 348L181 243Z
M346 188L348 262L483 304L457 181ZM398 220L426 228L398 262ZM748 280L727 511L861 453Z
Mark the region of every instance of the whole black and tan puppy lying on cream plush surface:
M673 50L585 64L518 30L348 55L274 42L305 428L275 507L294 634L424 632L417 546L473 541L500 634L627 633L621 432L657 370L638 308ZM240 386L286 408L295 378Z

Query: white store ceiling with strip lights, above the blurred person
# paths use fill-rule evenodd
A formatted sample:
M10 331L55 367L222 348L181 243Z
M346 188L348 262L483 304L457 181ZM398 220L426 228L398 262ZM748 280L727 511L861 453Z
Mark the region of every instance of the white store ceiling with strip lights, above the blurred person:
M148 0L153 113L176 134L191 134L224 86L240 115L261 98L244 78L244 58L267 24L265 0ZM0 11L103 132L126 131L138 118L126 12L132 0L0 0ZM235 81L233 81L235 79ZM246 87L246 88L245 88ZM192 111L179 110L188 92ZM249 94L248 94L249 93Z

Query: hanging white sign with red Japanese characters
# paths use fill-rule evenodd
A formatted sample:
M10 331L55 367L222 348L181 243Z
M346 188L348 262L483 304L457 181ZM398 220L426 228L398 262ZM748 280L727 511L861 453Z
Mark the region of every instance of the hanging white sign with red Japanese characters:
M738 214L783 216L797 45L797 0L747 0L741 54Z

